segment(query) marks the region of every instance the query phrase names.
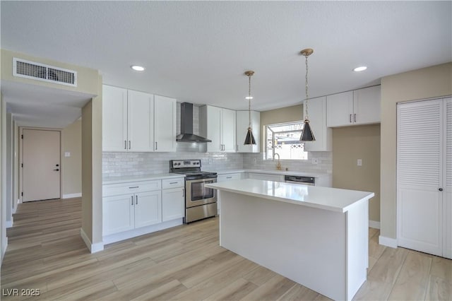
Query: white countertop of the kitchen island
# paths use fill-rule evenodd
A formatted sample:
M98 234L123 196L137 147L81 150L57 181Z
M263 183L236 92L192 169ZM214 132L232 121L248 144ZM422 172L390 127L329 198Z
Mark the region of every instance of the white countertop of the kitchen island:
M260 179L232 180L206 184L206 187L342 213L348 211L355 203L366 201L375 195L368 191L316 187Z

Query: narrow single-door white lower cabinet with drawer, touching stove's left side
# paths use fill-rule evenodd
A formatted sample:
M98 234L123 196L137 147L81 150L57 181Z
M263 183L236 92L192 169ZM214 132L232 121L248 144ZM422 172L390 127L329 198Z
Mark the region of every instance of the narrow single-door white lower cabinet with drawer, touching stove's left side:
M184 178L162 180L162 221L185 217Z

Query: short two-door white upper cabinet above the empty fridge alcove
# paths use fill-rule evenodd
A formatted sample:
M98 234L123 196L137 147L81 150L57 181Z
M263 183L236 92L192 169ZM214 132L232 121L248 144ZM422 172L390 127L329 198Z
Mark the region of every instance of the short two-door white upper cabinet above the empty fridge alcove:
M379 85L326 97L327 126L350 126L380 122Z

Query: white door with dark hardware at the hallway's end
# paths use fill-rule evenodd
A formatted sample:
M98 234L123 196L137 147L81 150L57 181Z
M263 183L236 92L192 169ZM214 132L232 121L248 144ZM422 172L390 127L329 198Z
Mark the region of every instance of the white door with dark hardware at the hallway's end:
M23 201L60 198L60 132L23 130Z

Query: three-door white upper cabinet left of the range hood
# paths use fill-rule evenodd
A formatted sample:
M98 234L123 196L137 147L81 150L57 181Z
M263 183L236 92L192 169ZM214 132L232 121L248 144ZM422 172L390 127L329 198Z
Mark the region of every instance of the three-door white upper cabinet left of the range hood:
M176 100L103 85L103 151L176 151Z

